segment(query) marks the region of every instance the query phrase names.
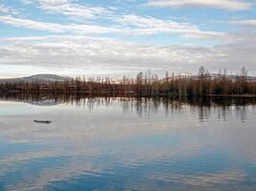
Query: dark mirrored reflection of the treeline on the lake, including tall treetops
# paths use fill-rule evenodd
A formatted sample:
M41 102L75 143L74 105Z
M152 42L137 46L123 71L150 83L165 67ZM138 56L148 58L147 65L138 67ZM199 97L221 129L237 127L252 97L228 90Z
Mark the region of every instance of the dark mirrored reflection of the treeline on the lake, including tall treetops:
M218 117L226 120L226 117L235 112L242 122L246 120L246 108L255 107L256 97L178 97L178 98L147 98L147 97L88 97L80 95L58 94L4 94L0 100L17 101L33 104L36 106L56 106L70 104L78 107L87 107L90 111L95 107L111 107L113 102L118 101L124 113L136 111L138 117L153 115L161 108L166 116L169 113L182 112L186 107L191 112L198 112L198 119L206 122L213 110L218 111Z

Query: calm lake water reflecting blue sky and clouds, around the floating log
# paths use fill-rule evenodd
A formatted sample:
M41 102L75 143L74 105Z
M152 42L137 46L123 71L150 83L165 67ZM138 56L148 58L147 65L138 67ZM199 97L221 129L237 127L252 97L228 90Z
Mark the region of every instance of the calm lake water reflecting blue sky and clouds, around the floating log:
M255 124L254 99L2 96L0 190L254 191Z

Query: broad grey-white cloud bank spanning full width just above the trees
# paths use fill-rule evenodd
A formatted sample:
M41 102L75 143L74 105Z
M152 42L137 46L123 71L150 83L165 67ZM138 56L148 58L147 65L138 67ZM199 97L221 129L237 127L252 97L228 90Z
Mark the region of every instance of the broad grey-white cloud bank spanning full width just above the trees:
M76 70L74 75L112 76L148 69L197 73L200 65L214 72L224 68L235 72L242 66L256 71L252 36L255 33L234 34L233 42L215 47L140 45L85 36L5 38L0 41L0 65L44 67L50 72L61 67Z

